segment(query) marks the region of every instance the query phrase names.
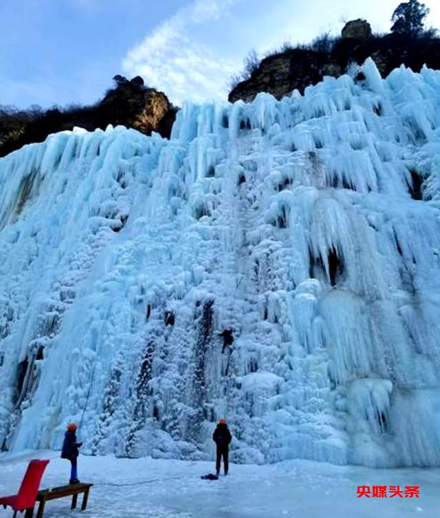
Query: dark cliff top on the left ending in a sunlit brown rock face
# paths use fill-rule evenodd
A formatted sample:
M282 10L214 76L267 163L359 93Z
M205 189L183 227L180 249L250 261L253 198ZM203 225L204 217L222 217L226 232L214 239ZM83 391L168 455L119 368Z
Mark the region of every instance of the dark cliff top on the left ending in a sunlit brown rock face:
M93 131L105 129L109 124L122 125L145 135L155 131L169 138L177 108L170 104L165 93L144 87L140 76L132 80L115 76L113 80L115 88L93 106L0 113L0 157L24 144L42 142L51 133L72 130L74 126Z

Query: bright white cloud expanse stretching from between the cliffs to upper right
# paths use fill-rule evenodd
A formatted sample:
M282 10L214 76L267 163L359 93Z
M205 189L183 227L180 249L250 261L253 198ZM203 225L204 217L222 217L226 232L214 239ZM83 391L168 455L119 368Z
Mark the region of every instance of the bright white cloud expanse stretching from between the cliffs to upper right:
M428 25L440 25L437 1L425 0L431 8ZM364 18L373 30L387 31L397 3L196 0L135 45L122 69L127 76L143 76L176 104L225 99L228 80L243 68L250 49L263 56L285 41L308 43L322 32L338 34L344 19Z

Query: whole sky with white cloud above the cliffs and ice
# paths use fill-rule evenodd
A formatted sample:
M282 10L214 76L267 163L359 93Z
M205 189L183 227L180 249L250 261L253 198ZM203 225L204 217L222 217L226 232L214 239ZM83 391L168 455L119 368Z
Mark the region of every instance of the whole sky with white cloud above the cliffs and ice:
M365 18L387 31L397 0L1 0L0 104L89 103L141 75L173 102L224 99L250 49L338 34ZM440 28L440 2L425 0Z

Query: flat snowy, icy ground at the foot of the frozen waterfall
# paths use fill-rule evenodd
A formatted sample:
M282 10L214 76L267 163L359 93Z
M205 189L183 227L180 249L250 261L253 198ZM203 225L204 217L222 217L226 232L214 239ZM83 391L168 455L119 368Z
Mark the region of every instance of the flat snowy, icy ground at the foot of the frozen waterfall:
M12 493L29 459L50 458L42 486L63 484L59 453L0 454L0 495ZM437 517L440 469L367 469L305 460L232 465L228 477L200 480L210 462L81 457L80 478L95 484L84 517L391 518ZM120 486L120 484L127 484ZM133 485L129 485L133 484ZM136 484L136 485L135 485ZM358 486L420 486L419 498L358 498ZM0 516L10 513L0 510ZM47 504L46 518L74 516L66 499Z

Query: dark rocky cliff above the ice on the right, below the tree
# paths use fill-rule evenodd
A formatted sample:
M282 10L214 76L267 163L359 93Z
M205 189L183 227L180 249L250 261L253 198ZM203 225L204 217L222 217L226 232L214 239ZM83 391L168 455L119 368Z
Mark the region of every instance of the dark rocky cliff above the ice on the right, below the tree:
M368 57L375 60L382 77L400 65L420 71L423 65L440 68L440 38L408 38L399 34L375 36L364 20L353 20L342 29L342 35L326 45L296 47L263 59L250 78L240 82L229 94L230 102L252 101L265 91L277 99L295 89L303 93L324 76L339 77L350 63L362 64Z

